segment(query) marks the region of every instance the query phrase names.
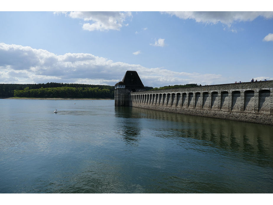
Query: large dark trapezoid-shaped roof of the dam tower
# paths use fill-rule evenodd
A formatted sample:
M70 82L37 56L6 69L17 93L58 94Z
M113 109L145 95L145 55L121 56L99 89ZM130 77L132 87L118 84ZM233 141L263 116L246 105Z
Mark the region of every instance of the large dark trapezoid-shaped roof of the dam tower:
M122 82L125 83L125 86L128 89L145 89L137 74L137 71L127 70Z

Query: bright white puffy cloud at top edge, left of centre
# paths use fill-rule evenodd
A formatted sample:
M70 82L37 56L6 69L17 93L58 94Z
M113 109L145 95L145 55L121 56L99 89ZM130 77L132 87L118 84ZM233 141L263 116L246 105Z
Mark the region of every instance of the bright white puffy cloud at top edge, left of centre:
M131 12L54 12L54 14L65 14L74 19L82 19L86 21L82 25L83 30L120 30L122 26L128 26L124 24L124 21L128 17L131 17Z

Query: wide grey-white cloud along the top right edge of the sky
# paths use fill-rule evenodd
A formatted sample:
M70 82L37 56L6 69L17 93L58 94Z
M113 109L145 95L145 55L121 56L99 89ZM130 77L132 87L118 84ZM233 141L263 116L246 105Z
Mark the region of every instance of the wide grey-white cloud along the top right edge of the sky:
M273 17L273 12L162 12L180 19L194 19L196 22L222 24L231 26L234 22L253 21L261 16L266 19Z

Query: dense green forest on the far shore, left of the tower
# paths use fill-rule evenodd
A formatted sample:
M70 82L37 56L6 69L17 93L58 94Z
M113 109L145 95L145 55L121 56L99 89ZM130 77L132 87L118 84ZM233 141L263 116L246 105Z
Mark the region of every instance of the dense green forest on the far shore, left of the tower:
M153 87L145 87L150 90ZM0 84L0 97L114 98L114 86L77 83Z

